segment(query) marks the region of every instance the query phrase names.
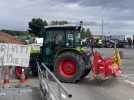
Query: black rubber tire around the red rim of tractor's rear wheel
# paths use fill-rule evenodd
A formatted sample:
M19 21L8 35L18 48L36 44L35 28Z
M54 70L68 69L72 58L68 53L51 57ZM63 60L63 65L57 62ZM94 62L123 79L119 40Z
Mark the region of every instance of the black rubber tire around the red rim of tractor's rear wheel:
M60 64L61 62L64 62L66 60L72 60L73 62L76 63L77 71L71 77L66 77L60 73ZM84 66L85 63L80 55L72 52L65 52L56 57L54 73L57 76L57 78L62 82L75 83L81 79L81 76L83 75L83 72L85 70Z

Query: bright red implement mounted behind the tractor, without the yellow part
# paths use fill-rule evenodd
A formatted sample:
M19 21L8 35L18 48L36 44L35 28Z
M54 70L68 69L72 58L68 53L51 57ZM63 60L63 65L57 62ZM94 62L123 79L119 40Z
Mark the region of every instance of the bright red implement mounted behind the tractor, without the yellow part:
M120 65L115 62L114 57L103 58L97 51L93 55L92 71L94 78L107 79L111 76L118 77L121 74Z

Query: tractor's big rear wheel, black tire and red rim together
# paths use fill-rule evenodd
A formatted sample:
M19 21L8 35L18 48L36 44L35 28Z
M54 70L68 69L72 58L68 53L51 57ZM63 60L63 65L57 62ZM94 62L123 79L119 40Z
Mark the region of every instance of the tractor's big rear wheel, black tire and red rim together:
M65 52L60 54L55 61L55 75L62 82L74 83L81 79L84 61L78 54Z

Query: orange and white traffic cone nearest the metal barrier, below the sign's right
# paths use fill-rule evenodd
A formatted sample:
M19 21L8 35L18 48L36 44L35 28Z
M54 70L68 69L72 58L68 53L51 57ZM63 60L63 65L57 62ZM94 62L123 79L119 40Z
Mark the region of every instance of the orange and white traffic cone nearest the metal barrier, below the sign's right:
M28 86L28 82L26 80L25 71L22 68L22 72L21 72L21 75L20 75L19 87L26 87L26 86Z

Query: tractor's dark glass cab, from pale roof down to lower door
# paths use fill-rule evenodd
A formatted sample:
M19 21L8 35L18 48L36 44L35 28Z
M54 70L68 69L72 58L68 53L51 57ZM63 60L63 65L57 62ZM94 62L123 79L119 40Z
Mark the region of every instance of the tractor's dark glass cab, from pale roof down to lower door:
M47 26L43 38L43 58L47 64L52 63L57 51L80 47L80 26ZM50 60L51 59L51 60Z

